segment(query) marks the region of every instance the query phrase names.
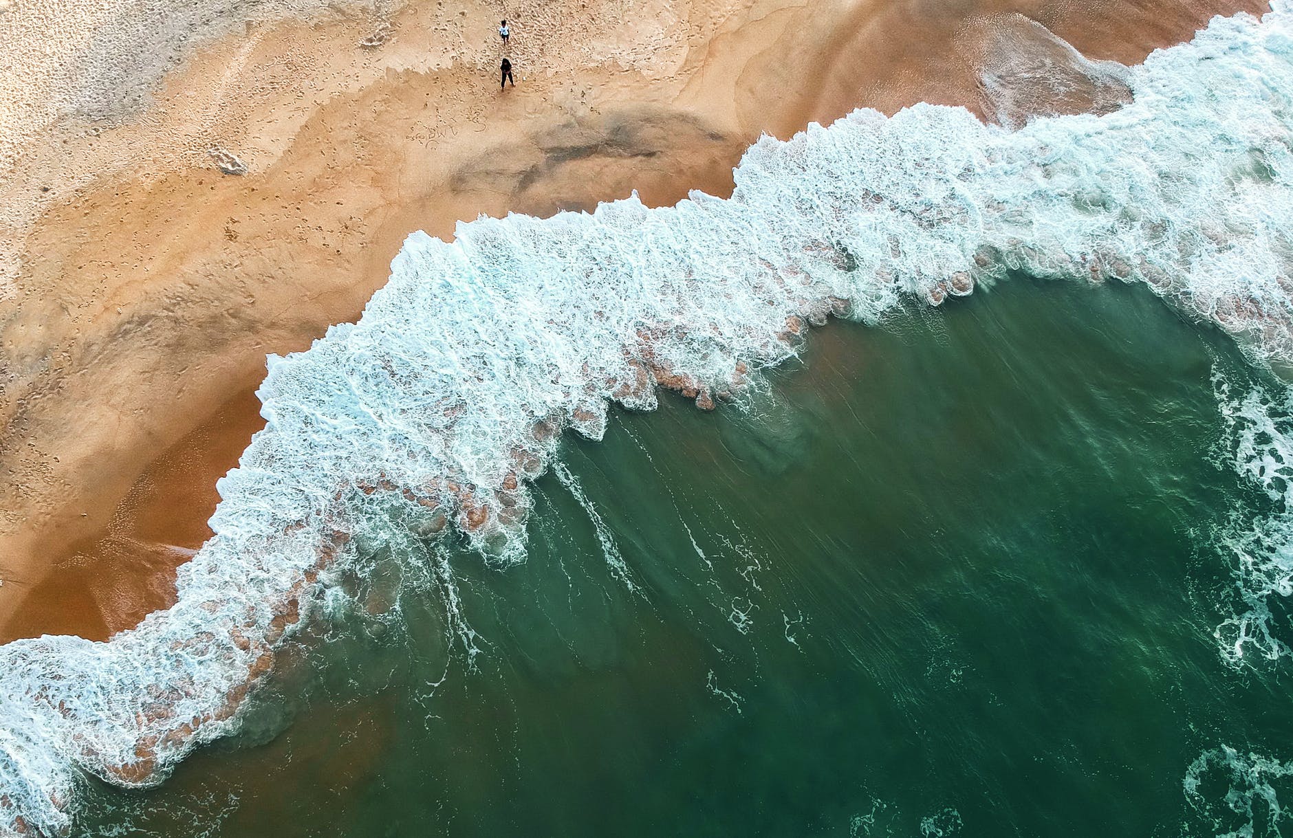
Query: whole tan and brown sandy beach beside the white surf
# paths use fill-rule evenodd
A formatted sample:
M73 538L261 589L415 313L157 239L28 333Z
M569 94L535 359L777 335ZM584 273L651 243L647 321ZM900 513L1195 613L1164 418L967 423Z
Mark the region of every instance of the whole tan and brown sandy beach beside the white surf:
M760 133L862 105L1108 109L1125 88L1055 36L1130 63L1265 8L6 3L0 641L102 639L167 605L259 427L265 353L357 317L411 230L727 194Z

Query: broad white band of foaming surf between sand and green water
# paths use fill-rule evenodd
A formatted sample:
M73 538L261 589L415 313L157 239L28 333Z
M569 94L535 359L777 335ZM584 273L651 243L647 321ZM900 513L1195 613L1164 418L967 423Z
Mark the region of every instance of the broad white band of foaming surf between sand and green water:
M70 829L85 773L160 781L234 732L337 568L401 533L525 552L566 428L657 388L740 398L829 316L879 322L1012 270L1144 282L1293 361L1293 18L1217 19L1130 70L1131 103L1018 131L860 110L743 156L728 200L412 234L358 323L272 357L268 424L220 481L177 603L107 643L0 648L0 833Z

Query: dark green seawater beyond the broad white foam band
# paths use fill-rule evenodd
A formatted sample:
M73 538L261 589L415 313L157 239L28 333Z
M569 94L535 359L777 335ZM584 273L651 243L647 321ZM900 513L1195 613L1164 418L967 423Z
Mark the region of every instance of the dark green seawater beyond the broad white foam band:
M569 438L521 565L369 546L240 740L79 829L1288 834L1289 662L1214 636L1266 502L1218 374L1263 379L1122 286L815 330L749 410ZM1224 746L1275 768L1191 773Z

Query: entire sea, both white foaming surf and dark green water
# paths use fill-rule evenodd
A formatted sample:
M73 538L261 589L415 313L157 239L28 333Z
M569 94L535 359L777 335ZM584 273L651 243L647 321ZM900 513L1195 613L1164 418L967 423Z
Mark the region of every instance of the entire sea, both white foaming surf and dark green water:
M410 235L176 605L0 648L0 829L1275 834L1290 35Z

